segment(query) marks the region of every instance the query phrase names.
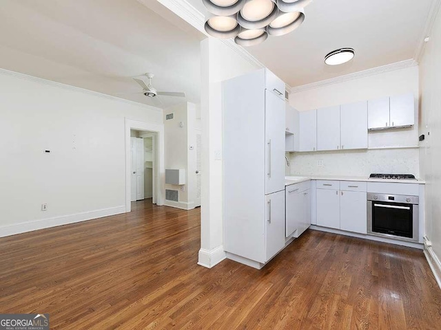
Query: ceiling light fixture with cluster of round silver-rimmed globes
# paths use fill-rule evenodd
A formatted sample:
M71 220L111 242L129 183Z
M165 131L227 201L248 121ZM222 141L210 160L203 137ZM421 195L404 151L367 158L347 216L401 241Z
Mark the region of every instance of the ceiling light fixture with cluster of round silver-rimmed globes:
M312 0L202 0L212 14L205 31L242 46L258 45L268 36L283 36L305 20Z

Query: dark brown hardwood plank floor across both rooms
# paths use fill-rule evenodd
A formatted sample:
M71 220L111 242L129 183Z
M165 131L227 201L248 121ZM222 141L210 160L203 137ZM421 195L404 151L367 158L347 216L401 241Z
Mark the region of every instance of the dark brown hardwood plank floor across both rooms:
M51 329L441 329L420 250L307 230L263 270L207 270L199 209L132 210L0 239L0 312Z

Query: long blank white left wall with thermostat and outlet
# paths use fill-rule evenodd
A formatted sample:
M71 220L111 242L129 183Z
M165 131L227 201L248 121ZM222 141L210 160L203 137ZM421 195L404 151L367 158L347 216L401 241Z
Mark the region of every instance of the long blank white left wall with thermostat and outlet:
M0 85L0 236L125 212L125 118L162 125L161 109L3 70Z

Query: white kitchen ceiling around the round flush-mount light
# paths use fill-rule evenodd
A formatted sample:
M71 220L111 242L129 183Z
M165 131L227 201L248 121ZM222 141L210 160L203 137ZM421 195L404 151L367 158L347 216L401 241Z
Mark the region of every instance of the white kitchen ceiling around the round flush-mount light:
M204 14L201 0L188 0ZM305 22L285 36L247 47L291 87L315 83L414 57L433 0L314 0ZM341 47L356 50L353 61L325 65Z

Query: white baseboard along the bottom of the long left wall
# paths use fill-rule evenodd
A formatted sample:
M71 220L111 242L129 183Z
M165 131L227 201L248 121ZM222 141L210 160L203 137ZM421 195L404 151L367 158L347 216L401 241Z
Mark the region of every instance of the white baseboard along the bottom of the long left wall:
M69 223L108 217L110 215L121 213L125 213L125 206L116 206L114 208L104 208L102 210L63 215L61 217L14 223L13 225L3 225L0 227L0 237L21 234L23 232L32 232L39 229L57 227L58 225L68 225Z

